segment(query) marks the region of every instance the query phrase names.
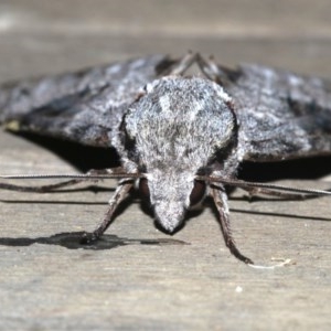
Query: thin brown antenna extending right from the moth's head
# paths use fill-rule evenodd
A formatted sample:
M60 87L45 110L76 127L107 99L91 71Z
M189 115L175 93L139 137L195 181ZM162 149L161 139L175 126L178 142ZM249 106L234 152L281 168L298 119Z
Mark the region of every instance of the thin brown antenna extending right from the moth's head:
M277 185L277 184L268 184L268 183L259 183L259 182L246 182L242 180L234 179L224 179L224 178L215 178L209 175L196 175L196 180L203 180L210 183L222 183L231 186L237 186L242 189L264 189L270 192L284 191L284 192L292 192L292 193L301 193L309 195L331 195L330 191L324 190L314 190L314 189L299 189L292 186Z

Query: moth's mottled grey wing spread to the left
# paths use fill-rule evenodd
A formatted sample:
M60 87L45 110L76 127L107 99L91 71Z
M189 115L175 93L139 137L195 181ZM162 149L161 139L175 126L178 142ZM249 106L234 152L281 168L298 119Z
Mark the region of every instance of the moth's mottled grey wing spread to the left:
M164 55L152 55L3 85L0 122L15 130L90 146L110 146L113 135L139 90L172 64Z

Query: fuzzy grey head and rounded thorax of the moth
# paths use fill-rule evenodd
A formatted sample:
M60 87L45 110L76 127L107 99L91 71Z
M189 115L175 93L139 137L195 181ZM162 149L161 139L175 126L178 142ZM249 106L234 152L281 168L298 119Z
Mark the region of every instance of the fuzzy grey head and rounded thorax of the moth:
M169 76L146 87L124 120L127 159L145 174L160 225L173 232L189 206L204 196L195 175L211 173L236 141L231 98L203 78ZM207 173L206 173L207 172Z

